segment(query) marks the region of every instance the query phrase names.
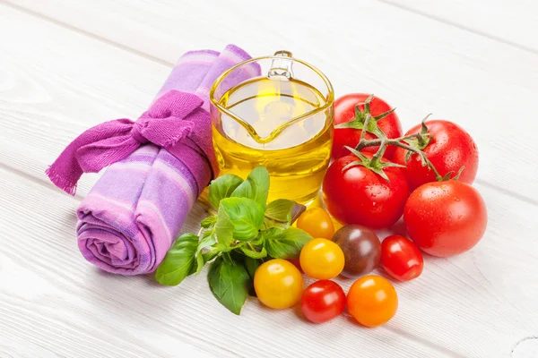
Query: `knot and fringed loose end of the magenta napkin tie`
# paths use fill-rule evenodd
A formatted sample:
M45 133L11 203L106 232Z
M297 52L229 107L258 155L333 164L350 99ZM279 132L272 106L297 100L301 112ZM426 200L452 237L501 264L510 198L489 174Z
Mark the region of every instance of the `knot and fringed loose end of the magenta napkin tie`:
M74 195L83 173L98 173L145 143L173 149L179 141L193 136L196 124L209 117L201 108L203 103L193 93L169 90L136 122L117 119L82 132L46 173L57 187Z

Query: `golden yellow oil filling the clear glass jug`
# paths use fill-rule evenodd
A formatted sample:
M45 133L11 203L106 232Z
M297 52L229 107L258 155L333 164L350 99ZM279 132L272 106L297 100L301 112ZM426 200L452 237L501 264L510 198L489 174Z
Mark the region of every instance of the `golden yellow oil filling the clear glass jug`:
M333 108L313 112L325 103L318 90L293 79L259 77L224 93L221 107L245 123L213 113L218 115L213 144L221 175L245 178L262 165L271 177L269 200L314 200L332 146Z

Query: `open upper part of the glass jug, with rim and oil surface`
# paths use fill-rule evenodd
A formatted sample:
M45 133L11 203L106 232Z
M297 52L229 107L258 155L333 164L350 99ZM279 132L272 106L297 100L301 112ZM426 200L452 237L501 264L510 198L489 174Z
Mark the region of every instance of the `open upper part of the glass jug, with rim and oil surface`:
M247 78L235 82L239 76ZM248 148L292 148L332 124L328 120L334 100L330 82L286 50L247 60L222 73L210 98L215 130Z

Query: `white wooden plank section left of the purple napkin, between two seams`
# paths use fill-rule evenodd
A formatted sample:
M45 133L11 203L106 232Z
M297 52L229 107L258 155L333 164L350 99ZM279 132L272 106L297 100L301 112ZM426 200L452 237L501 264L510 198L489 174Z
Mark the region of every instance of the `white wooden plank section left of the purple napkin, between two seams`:
M1 10L0 164L46 183L45 169L69 141L106 120L136 119L169 73L120 48ZM79 193L97 177L84 175Z

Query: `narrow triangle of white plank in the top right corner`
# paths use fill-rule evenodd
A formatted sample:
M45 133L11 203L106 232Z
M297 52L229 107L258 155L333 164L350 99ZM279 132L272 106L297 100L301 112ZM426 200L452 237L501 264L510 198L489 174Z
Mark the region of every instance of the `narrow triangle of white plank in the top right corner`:
M538 54L534 0L379 0Z

